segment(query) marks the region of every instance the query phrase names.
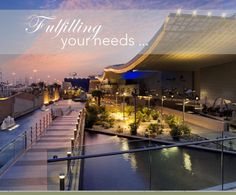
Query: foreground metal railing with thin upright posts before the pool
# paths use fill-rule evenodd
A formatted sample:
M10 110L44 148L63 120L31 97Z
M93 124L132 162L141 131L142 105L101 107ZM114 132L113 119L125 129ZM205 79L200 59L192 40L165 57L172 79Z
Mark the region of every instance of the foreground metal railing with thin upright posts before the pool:
M134 149L129 149L129 150L123 150L123 151L112 151L112 152L103 152L103 153L97 153L97 154L85 154L85 155L76 155L76 153L72 154L71 156L67 156L67 157L62 157L62 158L57 158L57 159L48 159L48 163L59 163L59 162L67 162L67 163L71 163L71 162L76 162L79 161L81 162L81 160L83 159L91 159L91 158L98 158L98 157L109 157L109 156L117 156L117 155L125 155L125 154L138 154L138 153L143 153L146 152L149 155L149 166L150 166L150 172L151 172L151 165L152 165L152 155L151 152L152 151L161 151L163 149L171 149L171 148L191 148L191 146L196 146L196 145L204 145L202 148L199 147L199 149L201 150L208 150L210 152L217 152L220 155L220 187L218 186L217 190L226 190L225 188L225 180L224 180L224 175L225 175L225 163L224 163L224 155L225 154L230 154L230 155L235 155L236 157L236 152L234 151L230 151L230 150L226 150L225 146L224 146L224 142L227 141L232 141L232 140L236 140L236 136L234 137L224 137L224 133L222 133L222 137L221 138L217 138L217 139L211 139L211 140L202 140L202 141L193 141L193 142L184 142L184 143L175 143L175 144L169 144L169 145L154 145L153 144L149 144L145 147L142 148L134 148ZM147 139L143 140L143 141L147 141ZM153 140L150 141L153 143ZM206 144L210 144L210 143L220 143L221 148L218 149L211 149L211 148L206 148L205 145ZM85 146L86 147L86 146ZM205 149L204 149L205 148ZM82 150L83 147L79 147L78 150ZM77 153L79 154L79 153ZM76 164L74 164L76 165ZM76 165L78 166L78 165ZM154 166L154 165L153 165ZM151 173L149 173L151 175ZM78 190L78 186L77 189L75 188L70 188L69 186L67 186L67 188L65 188L65 178L61 177L61 175L59 176L59 183L60 183L60 190ZM150 177L150 187L148 190L152 190L152 180L153 178ZM236 181L236 178L235 178ZM211 186L209 186L211 187ZM231 186L232 187L232 186ZM236 188L236 184L234 185L234 188ZM227 187L227 189L229 189L229 187ZM185 189L182 189L185 190Z

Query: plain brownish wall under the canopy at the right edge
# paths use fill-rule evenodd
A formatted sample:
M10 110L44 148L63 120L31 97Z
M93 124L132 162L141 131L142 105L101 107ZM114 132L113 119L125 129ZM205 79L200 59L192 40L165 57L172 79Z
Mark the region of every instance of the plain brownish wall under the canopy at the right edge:
M211 105L215 98L236 102L236 64L224 64L201 69L200 94Z

